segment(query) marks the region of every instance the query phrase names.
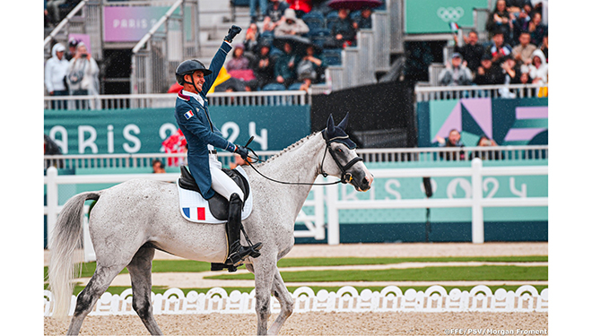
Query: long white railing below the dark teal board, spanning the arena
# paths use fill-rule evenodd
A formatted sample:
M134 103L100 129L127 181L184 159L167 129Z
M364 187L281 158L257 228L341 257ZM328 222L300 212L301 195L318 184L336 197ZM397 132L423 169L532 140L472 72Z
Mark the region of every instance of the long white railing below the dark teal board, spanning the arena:
M257 151L260 159L266 160L278 151ZM498 147L445 147L445 148L390 148L359 149L358 155L364 162L445 162L469 161L478 156L481 159L503 161L546 160L549 146L498 146ZM230 166L234 154L219 151L218 159L223 166ZM186 161L185 153L165 154L80 154L46 155L44 168L152 168L152 161L160 159L167 167L178 166Z

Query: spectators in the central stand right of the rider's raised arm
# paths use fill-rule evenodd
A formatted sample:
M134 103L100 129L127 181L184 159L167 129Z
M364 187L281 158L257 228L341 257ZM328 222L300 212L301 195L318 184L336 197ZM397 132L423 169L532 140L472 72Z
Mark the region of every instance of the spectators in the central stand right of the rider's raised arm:
M251 1L245 38L225 65L244 85L230 90L307 90L325 82L326 66L340 64L341 49L356 46L357 30L372 25L370 8L334 9L329 2Z

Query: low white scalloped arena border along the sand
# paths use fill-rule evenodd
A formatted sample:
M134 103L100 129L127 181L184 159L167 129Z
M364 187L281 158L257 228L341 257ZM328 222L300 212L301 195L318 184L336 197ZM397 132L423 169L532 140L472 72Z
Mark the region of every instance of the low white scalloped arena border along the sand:
M358 293L351 286L337 292L326 289L317 295L309 287L294 290L294 313L308 312L498 312L529 313L548 312L549 289L538 291L530 285L520 286L515 292L506 289L492 289L475 286L470 291L451 289L447 293L441 286L431 286L423 291L407 289L405 294L396 286L387 286L380 291L363 289ZM74 314L76 297L71 298L69 314ZM255 314L255 289L250 293L233 290L230 295L221 288L210 289L198 294L190 291L187 296L181 289L168 289L164 294L152 293L153 314ZM53 296L44 291L44 316L51 316ZM280 304L272 297L272 314L280 312ZM104 293L90 315L128 315L135 314L132 308L132 289L121 295Z

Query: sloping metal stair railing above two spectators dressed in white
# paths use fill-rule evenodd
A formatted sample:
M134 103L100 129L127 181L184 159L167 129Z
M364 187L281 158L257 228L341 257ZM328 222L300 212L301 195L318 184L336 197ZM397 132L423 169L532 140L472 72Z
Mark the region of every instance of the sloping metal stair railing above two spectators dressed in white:
M67 47L68 34L77 33L89 35L91 55L94 59L101 60L103 57L101 22L100 0L82 0L43 40L45 59L51 57L52 41L62 43L64 47Z

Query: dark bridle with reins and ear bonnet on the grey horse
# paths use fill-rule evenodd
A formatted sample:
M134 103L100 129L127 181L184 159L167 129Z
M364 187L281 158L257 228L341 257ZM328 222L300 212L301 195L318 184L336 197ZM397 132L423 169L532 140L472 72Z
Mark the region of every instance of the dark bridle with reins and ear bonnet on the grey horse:
M325 139L325 153L323 154L323 159L321 160L321 167L320 167L320 174L323 177L328 177L328 174L325 172L325 170L323 169L323 166L325 164L325 158L326 158L326 152L328 151L329 154L331 154L331 157L333 158L333 160L335 161L335 164L337 165L337 167L339 168L339 170L341 171L341 179L335 182L328 182L328 183L305 183L305 182L285 182L285 181L278 181L275 180L274 178L271 177L266 177L265 175L263 175L261 172L259 172L257 170L257 168L255 168L255 166L253 166L251 164L251 162L249 160L247 161L247 164L253 168L253 170L255 170L257 172L257 174L259 174L262 177L266 177L266 179L273 181L275 183L279 183L282 185L336 185L338 183L343 183L343 184L347 184L348 182L352 181L353 177L352 177L352 173L347 172L347 169L352 168L352 166L354 164L356 164L359 161L363 161L363 159L361 159L361 157L356 156L355 158L351 159L349 162L347 162L345 164L345 166L343 166L339 160L337 159L337 154L335 153L335 151L331 148L331 142L339 142L340 140L343 141L346 138L349 138L349 136L345 136L345 137L335 137L333 139L327 139L326 138L326 132L325 130L322 131L323 134L323 139ZM252 152L255 157L250 157L250 159L255 159L255 162L260 162L261 159L259 159L259 156L257 155L257 153L255 151L253 151L251 148L248 147L248 144L251 143L253 141L254 136L251 136L250 139L248 139L247 144L245 144L245 149L247 149L248 151Z

